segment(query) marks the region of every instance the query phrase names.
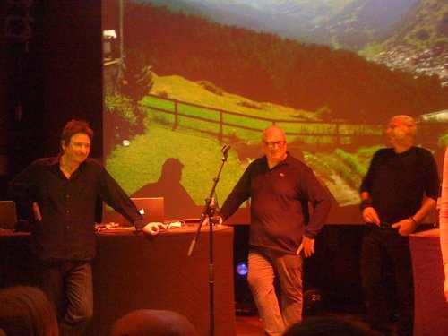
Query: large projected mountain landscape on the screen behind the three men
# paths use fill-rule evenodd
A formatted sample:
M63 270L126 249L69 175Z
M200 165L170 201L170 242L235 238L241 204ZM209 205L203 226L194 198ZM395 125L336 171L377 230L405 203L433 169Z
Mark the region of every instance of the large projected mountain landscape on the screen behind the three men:
M441 164L444 1L103 1L106 165L128 194L157 184L147 196L166 197L168 220L200 217L228 144L224 202L273 124L332 194L334 224L361 222L391 116L414 116ZM248 204L231 221L248 222Z

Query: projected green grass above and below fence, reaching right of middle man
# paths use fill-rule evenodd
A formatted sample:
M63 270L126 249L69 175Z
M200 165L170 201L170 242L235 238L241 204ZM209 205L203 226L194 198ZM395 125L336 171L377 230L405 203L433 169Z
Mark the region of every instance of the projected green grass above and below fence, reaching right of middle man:
M210 83L209 83L210 84ZM180 76L154 75L152 93L160 94L170 99L189 101L208 107L228 108L233 112L246 116L275 117L279 120L314 120L315 113L294 108L282 107L266 102L244 99L240 96L220 91L220 94L211 93L197 82L189 82ZM142 99L142 106L150 97ZM241 102L254 106L248 108L241 106ZM136 135L130 140L128 146L116 145L109 155L106 166L108 171L123 185L128 194L151 182L156 182L160 176L162 163L168 158L179 159L185 166L181 184L188 194L192 196L197 205L201 205L208 195L213 178L220 168L220 143L213 134L194 130L194 127L177 127L160 123L157 118L148 114L144 119L144 134ZM240 134L237 134L240 135ZM241 177L247 164L261 155L261 132L253 133L251 138L244 137L250 145L250 157L241 159L241 147L234 146L229 151L228 161L225 164L220 184L217 188L218 197L223 201L233 186ZM365 172L366 162L362 160L365 155L362 151L347 154L343 151L327 152L301 152L296 142L289 138L289 151L292 155L303 155L306 163L314 169L340 205L355 204L358 202L358 183L361 174ZM296 150L299 150L296 152ZM359 162L358 162L359 159ZM132 162L132 164L129 164Z

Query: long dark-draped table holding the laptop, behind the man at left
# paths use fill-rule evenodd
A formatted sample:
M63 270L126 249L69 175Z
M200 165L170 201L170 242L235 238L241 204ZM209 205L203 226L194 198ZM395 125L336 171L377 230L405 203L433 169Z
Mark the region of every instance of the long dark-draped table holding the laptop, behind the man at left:
M88 334L107 335L117 318L147 308L183 314L199 335L210 335L210 231L202 227L188 256L196 228L171 228L154 237L128 229L98 233L92 263L95 306ZM32 283L29 236L0 232L0 287ZM235 335L233 238L233 228L213 227L216 336Z

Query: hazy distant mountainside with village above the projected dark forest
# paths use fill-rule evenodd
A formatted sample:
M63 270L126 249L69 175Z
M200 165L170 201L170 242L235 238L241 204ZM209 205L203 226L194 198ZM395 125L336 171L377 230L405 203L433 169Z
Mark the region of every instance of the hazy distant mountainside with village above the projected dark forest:
M286 39L359 51L375 62L439 76L448 85L444 0L152 1Z

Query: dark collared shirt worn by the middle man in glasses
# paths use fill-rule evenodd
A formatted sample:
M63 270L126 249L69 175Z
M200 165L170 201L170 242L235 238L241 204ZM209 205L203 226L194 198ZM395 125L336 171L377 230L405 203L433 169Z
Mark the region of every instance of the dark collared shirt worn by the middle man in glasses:
M249 244L295 254L304 231L306 237L314 238L323 228L331 206L329 196L305 163L288 154L270 169L263 156L246 168L220 215L228 219L250 197ZM311 217L308 204L313 207Z

